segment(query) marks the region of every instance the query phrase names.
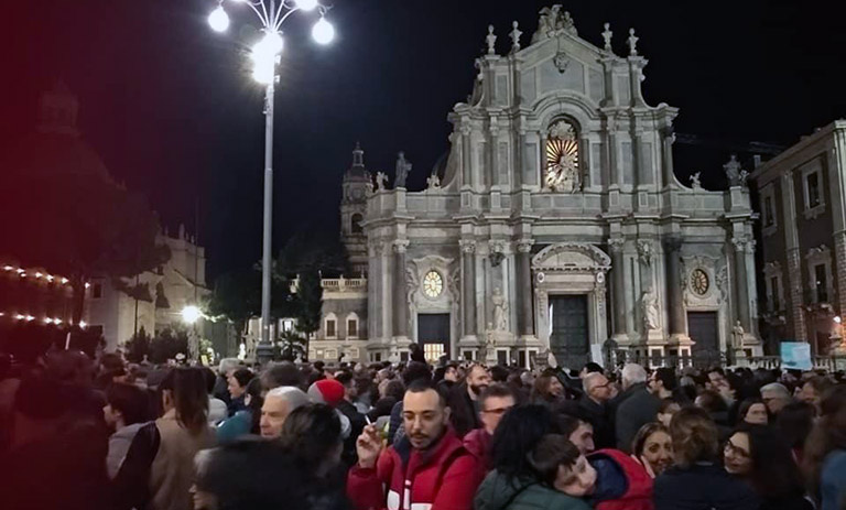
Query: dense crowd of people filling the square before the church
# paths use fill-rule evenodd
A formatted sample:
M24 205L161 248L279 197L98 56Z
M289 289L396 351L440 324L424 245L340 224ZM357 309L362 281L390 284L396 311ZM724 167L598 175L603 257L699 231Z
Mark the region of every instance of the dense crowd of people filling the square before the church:
M30 361L9 509L846 509L842 372Z

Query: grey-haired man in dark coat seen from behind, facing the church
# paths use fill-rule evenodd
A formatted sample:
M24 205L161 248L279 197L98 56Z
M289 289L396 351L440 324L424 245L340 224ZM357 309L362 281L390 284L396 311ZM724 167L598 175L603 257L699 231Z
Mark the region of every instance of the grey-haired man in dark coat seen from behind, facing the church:
M617 447L631 452L631 442L641 426L654 422L661 409L661 400L647 388L647 371L640 365L622 367L622 393L617 405Z

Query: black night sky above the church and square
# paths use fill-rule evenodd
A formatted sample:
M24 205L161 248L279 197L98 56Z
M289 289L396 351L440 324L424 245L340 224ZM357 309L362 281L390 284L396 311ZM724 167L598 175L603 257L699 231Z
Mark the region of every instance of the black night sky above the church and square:
M469 95L487 25L506 53L518 20L523 45L545 1L335 0L330 46L310 37L314 13L286 22L276 94L275 247L294 232L338 230L340 178L360 141L371 171L397 152L424 186L448 149L453 105ZM788 6L788 3L791 3ZM844 117L846 31L837 2L572 1L579 36L616 53L628 29L649 61L644 95L679 107L676 131L715 144L676 144L676 173L722 184L733 145L789 145ZM647 7L649 6L649 7ZM63 79L80 101L86 141L117 181L142 192L171 230L184 223L207 247L209 273L261 250L262 89L247 53L256 19L230 4L227 34L206 22L215 0L3 2L0 37L3 151L32 131L37 97ZM741 154L748 159L749 154Z

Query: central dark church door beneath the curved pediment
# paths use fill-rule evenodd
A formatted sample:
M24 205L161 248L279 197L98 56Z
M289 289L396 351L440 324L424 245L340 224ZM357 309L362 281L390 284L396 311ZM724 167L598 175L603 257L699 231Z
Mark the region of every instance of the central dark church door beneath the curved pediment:
M551 295L550 350L558 366L581 369L590 361L587 295Z

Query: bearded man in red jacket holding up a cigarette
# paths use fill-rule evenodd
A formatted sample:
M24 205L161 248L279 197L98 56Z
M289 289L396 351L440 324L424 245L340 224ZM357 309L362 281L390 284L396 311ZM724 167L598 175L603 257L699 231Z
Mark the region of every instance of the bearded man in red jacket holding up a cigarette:
M402 400L405 437L384 448L375 425L356 442L347 496L357 510L470 510L481 482L476 458L449 427L449 408L425 381Z

